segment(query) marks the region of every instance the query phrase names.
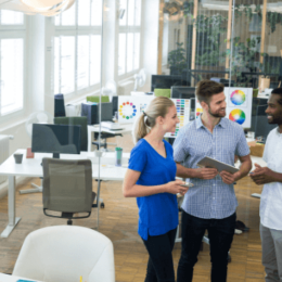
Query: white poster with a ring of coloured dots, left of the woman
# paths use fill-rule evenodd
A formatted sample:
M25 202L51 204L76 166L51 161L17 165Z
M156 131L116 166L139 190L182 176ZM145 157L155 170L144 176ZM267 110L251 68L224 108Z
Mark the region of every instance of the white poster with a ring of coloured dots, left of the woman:
M143 113L150 102L154 99L153 95L148 97L118 97L118 123L132 124Z

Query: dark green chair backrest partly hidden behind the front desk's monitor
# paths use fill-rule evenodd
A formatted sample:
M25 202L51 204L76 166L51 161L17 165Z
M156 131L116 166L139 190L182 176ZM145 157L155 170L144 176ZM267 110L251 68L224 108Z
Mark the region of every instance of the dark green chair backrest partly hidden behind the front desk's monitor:
M80 151L87 151L88 133L86 116L54 117L55 125L81 126L81 145Z

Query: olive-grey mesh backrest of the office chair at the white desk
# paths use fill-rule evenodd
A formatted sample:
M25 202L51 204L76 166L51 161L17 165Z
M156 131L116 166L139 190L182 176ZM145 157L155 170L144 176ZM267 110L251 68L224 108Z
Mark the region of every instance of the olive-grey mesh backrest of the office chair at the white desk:
M43 209L91 213L92 165L89 159L43 158Z

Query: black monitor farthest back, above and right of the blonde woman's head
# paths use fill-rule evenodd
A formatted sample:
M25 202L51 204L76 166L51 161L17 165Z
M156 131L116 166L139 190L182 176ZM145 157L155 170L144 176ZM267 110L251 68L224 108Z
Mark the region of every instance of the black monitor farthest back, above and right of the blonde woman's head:
M165 76L165 75L152 75L151 91L155 88L170 89L172 86L189 86L190 84L182 78L182 76Z

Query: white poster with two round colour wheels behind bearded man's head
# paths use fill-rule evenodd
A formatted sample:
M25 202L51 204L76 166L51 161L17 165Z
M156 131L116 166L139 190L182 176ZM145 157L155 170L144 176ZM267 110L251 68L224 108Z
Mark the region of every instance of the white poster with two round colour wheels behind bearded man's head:
M227 102L226 118L238 123L243 128L251 128L253 88L226 87L225 94ZM198 118L202 113L202 106L196 101L195 118Z

